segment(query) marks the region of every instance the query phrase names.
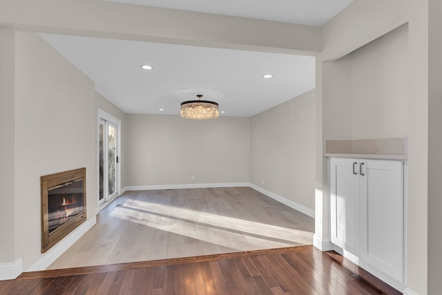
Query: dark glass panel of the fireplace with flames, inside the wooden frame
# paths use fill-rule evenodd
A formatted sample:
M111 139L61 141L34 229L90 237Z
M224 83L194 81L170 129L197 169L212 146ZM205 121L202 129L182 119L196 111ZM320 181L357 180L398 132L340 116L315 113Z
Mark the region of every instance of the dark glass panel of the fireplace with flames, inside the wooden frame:
M83 178L48 189L49 233L84 212Z

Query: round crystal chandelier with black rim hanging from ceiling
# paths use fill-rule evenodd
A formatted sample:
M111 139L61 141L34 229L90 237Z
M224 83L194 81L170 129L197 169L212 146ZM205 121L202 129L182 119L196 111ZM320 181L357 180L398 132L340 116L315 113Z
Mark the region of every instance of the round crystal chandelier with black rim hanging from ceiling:
M181 117L184 119L215 119L220 116L218 104L209 100L201 100L202 95L197 95L199 100L189 100L181 103Z

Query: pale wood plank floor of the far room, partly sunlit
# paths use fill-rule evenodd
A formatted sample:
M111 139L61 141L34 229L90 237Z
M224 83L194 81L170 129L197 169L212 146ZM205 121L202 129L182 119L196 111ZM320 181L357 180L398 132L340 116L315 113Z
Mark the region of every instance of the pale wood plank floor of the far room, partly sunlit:
M311 245L314 219L249 187L128 191L48 269Z

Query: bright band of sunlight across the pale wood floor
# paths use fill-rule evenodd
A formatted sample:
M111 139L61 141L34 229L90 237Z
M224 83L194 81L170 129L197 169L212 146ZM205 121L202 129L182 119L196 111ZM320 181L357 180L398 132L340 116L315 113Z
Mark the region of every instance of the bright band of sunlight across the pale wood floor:
M313 236L309 231L139 200L126 200L111 216L238 251L306 245Z

